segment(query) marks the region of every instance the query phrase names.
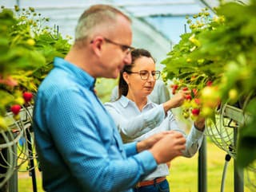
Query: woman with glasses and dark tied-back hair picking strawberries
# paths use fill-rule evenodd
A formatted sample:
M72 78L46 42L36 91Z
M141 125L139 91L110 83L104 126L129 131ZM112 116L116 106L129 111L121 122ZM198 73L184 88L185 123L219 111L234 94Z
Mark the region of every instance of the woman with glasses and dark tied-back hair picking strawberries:
M160 71L155 70L155 61L145 49L135 49L132 53L131 65L126 65L119 78L119 99L106 103L106 109L114 118L124 143L140 141L159 131L175 130L178 127L171 108L180 106L189 91L178 92L172 99L163 104L152 103L147 96L154 88ZM186 150L182 155L192 157L201 146L204 120L198 120L186 136ZM166 164L158 165L152 174L142 178L134 186L134 191L169 191L166 175L169 168Z

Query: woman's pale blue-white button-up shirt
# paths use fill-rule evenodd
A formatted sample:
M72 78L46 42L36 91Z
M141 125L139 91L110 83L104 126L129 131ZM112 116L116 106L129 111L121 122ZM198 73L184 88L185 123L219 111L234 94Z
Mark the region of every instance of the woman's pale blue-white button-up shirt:
M190 133L186 135L178 127L172 112L169 111L166 115L162 104L154 104L149 99L142 108L142 111L138 109L134 101L129 100L126 96L121 96L119 100L114 102L106 103L105 107L113 117L124 143L140 141L160 131L174 130L182 132L186 137L186 150L183 151L184 156L193 156L202 144L202 131L198 131L193 125ZM169 168L166 164L161 164L158 165L157 170L154 170L144 180L151 180L168 174Z

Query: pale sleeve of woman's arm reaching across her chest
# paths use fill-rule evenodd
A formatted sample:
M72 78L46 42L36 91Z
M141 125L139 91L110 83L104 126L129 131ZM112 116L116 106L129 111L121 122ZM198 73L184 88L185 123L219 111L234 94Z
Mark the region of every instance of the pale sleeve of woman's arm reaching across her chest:
M147 131L154 129L154 127L158 127L165 118L162 104L147 112L140 113L138 116L131 117L129 114L126 114L129 118L124 116L113 103L106 103L105 107L113 117L118 131L122 135L122 139L126 142L145 134Z

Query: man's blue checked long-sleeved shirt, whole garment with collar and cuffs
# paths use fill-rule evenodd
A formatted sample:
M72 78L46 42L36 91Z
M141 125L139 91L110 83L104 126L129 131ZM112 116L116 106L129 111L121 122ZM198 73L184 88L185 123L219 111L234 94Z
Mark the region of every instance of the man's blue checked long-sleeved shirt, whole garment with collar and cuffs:
M98 97L95 79L55 58L38 88L34 135L46 191L131 191L157 164L136 143L123 145Z

